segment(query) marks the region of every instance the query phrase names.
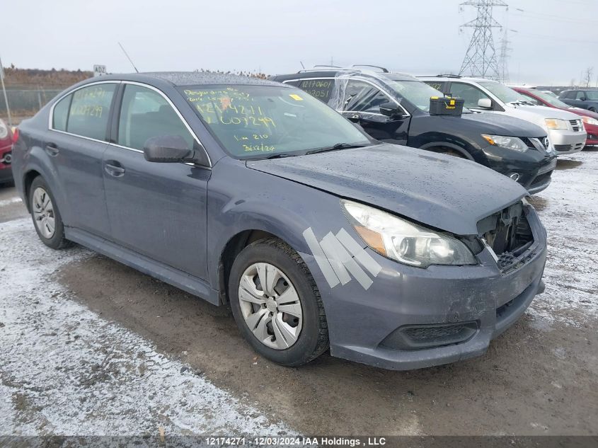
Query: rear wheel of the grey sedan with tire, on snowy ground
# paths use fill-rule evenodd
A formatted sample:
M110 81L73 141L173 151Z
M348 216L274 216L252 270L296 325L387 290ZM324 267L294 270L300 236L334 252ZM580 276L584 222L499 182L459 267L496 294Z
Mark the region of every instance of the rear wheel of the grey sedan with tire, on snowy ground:
M33 226L42 243L52 249L70 246L71 242L64 238L64 224L56 200L41 176L33 179L28 200Z

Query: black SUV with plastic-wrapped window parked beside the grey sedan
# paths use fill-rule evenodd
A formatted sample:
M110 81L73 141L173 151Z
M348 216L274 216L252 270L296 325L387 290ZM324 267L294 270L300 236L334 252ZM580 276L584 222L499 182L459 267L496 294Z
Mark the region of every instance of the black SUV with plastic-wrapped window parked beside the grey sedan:
M413 76L334 68L271 79L323 100L382 142L476 161L517 180L531 194L551 182L556 153L546 146L541 127L467 109L460 116L431 115L430 98L443 93Z

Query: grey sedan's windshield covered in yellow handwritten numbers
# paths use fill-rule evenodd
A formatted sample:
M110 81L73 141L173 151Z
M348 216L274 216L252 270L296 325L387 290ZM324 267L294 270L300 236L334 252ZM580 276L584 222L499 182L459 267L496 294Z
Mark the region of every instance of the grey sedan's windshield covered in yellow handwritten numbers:
M297 88L185 86L180 88L222 147L238 159L371 144L335 110Z

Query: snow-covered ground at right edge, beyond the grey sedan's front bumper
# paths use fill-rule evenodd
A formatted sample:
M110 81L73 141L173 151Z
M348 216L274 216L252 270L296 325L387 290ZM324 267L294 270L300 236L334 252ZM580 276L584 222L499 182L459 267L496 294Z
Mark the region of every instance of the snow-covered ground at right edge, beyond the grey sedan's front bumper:
M578 325L598 318L598 152L558 159L560 169L532 197L548 231L546 291L529 313L546 321ZM568 312L571 311L571 312Z

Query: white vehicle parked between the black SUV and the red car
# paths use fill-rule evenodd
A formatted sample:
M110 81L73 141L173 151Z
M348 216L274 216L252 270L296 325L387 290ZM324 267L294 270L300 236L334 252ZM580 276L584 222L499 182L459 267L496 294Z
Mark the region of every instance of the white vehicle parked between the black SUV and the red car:
M502 113L541 126L557 154L572 154L585 146L587 134L579 115L534 105L497 81L455 75L420 76L420 79L439 91L464 98L464 106L471 110Z

